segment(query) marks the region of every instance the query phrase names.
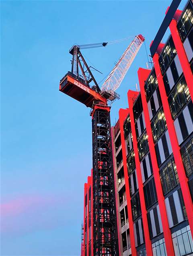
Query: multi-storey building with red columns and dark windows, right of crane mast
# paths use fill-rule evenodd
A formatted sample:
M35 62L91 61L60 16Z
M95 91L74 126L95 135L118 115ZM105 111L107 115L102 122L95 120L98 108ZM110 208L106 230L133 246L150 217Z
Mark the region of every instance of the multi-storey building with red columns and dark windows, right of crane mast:
M123 256L193 255L193 1L168 19L171 13L150 46L154 67L138 70L140 92L128 91L112 127ZM85 200L83 255L92 255Z

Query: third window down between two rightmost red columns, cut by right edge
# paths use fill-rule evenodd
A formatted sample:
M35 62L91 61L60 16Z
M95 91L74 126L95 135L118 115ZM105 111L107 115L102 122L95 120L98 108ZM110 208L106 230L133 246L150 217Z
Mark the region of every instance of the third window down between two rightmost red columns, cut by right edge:
M193 174L193 138L181 148L181 155L187 177Z

